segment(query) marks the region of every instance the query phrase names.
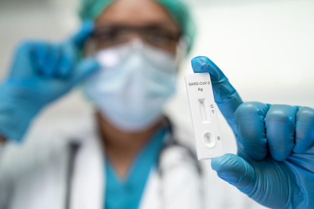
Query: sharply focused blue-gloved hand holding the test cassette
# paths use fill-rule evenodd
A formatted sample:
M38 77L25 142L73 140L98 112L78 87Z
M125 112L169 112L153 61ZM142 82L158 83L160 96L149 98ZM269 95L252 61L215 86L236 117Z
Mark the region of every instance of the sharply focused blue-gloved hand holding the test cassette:
M238 142L238 154L212 159L220 178L271 208L314 206L314 109L243 103L207 57L192 60L194 72L209 72L215 100Z

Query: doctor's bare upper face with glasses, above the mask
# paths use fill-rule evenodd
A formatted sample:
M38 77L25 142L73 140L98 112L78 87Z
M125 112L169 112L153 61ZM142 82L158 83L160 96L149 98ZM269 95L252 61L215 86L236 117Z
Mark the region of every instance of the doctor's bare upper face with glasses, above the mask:
M96 50L125 44L133 39L176 53L181 36L178 24L153 0L116 0L96 19Z

